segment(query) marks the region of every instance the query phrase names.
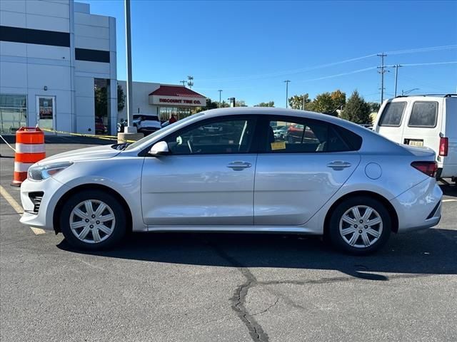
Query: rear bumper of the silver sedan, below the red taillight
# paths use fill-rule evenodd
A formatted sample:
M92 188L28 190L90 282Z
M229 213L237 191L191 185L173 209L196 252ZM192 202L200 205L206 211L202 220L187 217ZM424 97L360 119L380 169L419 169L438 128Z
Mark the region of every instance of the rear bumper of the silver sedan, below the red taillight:
M441 188L430 177L392 199L398 216L398 232L436 226L441 219L442 197Z

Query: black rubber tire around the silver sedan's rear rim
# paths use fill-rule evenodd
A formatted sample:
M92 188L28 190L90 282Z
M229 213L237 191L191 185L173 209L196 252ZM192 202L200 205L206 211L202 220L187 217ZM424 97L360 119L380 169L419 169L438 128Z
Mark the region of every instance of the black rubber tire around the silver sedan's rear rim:
M345 238L343 238L342 234L340 233L340 222L343 217L343 214L348 212L349 209L356 207L356 206L361 206L361 207L371 207L376 211L376 213L373 214L371 217L376 217L376 214L378 214L378 217L381 218L381 223L382 223L382 229L381 229L381 234L379 234L377 240L376 237L371 235L371 233L368 233L368 239L371 239L371 242L373 244L369 245L368 247L360 247L361 244L363 244L363 237L362 234L365 234L365 237L367 236L367 233L365 231L365 227L369 227L368 225L365 225L366 222L363 224L360 224L359 222L356 222L356 224L348 224L347 228L351 229L356 229L357 234L362 232L362 234L356 235L354 239L356 240L356 244L359 247L354 247L349 244L349 242L346 242ZM359 209L359 212L361 215L363 215L365 212L361 212ZM363 219L363 217L361 217ZM342 223L342 228L344 229L346 226L344 226L345 223ZM360 226L360 227L359 227ZM355 228L354 228L355 227ZM375 225L373 226L374 230L378 231L380 228L380 225ZM391 222L391 217L388 214L388 210L382 204L379 202L377 199L373 199L371 197L366 197L366 196L359 196L359 197L351 197L349 199L344 200L338 206L333 210L331 213L331 217L329 220L329 226L328 226L328 240L331 242L333 247L338 249L341 252L349 253L349 254L356 254L356 255L363 255L363 254L370 254L375 252L376 250L380 249L383 247L384 244L388 241L388 238L391 235L391 228L392 228L392 222ZM345 235L346 239L350 239L353 237L351 233L348 233ZM376 240L376 241L375 241Z

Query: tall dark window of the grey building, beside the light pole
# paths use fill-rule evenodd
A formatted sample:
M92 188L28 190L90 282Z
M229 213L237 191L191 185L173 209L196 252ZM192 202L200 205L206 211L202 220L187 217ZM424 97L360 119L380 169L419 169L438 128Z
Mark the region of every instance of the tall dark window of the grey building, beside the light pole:
M109 134L111 115L109 105L109 79L94 78L95 133Z

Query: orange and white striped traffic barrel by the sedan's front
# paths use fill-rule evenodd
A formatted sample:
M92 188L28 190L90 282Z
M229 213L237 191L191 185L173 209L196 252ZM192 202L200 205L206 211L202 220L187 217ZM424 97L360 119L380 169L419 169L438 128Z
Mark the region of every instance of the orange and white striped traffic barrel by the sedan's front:
M11 185L20 187L27 178L29 167L46 157L44 133L38 127L21 127L16 131L14 179Z

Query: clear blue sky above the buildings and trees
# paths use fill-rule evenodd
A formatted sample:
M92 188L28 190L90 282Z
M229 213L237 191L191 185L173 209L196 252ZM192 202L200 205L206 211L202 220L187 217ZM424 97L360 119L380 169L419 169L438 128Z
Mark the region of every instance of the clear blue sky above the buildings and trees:
M116 17L118 78L125 80L124 1L81 2L92 14ZM379 101L379 57L334 63L383 51L388 65L457 61L457 1L133 0L131 22L134 81L179 84L191 75L199 93L219 100L222 89L223 99L248 105L285 106L286 79L289 95L357 89ZM401 53L436 46L453 48ZM388 70L391 97L395 72ZM456 93L457 64L399 68L398 92L412 88Z

